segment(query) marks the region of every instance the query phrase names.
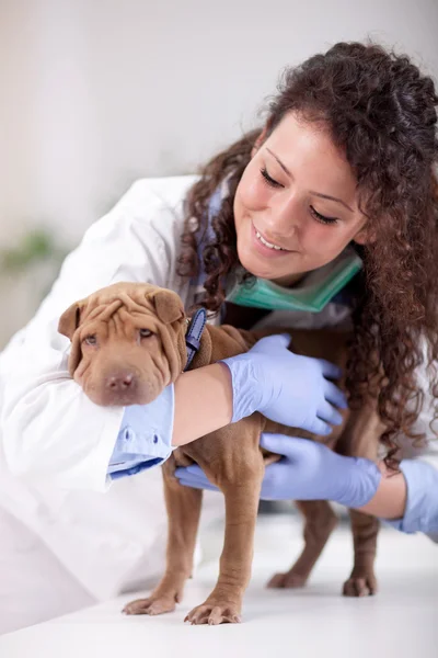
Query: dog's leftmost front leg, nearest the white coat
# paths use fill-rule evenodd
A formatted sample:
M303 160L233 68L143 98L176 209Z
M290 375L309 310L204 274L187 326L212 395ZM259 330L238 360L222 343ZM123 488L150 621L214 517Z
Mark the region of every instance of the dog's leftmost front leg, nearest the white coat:
M172 476L173 469L169 468L168 463L164 466L169 524L165 574L148 599L131 601L124 608L127 614L172 612L182 600L185 581L192 576L203 491L183 487Z

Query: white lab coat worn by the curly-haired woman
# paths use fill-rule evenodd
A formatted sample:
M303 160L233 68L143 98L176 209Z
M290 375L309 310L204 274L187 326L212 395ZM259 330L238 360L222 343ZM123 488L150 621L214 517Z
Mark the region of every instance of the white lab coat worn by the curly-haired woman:
M106 469L124 409L94 405L70 378L70 341L57 326L74 300L117 281L149 281L192 303L191 286L175 269L182 204L194 181L177 177L134 183L90 227L35 317L0 355L0 632L70 610L66 589L74 590L78 604L87 604L138 587L163 568L161 472L119 479L107 490ZM221 507L220 497L212 496L207 518ZM34 611L26 600L32 574L25 582L18 559L23 542L33 547L26 564L35 563L36 580L51 554L56 578L62 572L71 586L54 582L51 604L48 593L39 592ZM14 597L18 614L4 625L3 609L14 609Z

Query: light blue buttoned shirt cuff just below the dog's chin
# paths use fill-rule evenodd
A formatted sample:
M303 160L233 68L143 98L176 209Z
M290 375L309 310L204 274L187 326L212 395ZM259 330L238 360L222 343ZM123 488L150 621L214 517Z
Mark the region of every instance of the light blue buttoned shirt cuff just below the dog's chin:
M168 386L149 405L126 407L110 460L112 479L162 464L172 453L174 389Z

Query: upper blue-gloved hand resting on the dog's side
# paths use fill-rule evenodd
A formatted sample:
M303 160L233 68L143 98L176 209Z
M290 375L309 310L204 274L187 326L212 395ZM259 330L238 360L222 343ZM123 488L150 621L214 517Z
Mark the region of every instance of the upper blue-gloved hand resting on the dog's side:
M347 407L344 394L328 378L341 370L323 359L300 356L287 348L289 334L262 338L249 352L224 359L231 372L237 422L254 411L288 427L330 434L342 416L332 405Z

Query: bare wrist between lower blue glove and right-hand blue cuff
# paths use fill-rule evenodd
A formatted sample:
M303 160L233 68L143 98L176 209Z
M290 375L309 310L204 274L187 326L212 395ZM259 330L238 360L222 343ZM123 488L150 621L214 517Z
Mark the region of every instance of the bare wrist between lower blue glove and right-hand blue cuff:
M401 519L407 500L407 486L403 473L389 470L384 463L379 464L382 478L371 500L359 511L380 519Z

